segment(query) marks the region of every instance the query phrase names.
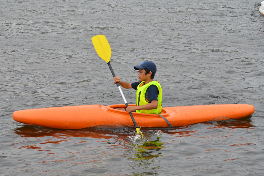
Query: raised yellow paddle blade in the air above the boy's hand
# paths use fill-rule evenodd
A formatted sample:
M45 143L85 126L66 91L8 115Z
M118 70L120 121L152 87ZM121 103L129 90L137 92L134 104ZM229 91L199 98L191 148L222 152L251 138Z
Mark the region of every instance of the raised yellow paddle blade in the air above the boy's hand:
M110 45L104 35L96 35L92 37L94 49L96 50L99 57L105 60L107 63L110 61L112 54Z

